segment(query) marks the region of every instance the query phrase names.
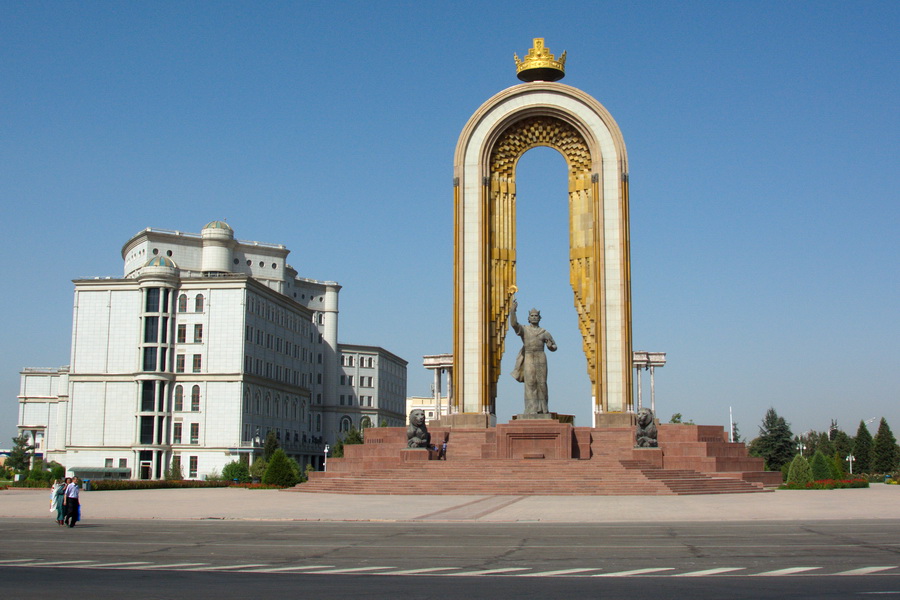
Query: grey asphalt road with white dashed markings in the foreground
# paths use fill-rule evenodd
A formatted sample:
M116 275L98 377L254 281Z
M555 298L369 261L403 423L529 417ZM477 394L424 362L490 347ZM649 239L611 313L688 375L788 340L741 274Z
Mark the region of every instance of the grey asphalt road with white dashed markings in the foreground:
M0 581L11 598L900 598L898 533L900 520L0 519Z

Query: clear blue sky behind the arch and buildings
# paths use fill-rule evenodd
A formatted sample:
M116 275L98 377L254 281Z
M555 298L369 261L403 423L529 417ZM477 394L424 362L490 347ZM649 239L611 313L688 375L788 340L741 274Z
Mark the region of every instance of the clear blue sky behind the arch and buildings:
M533 37L606 106L631 170L635 349L675 412L754 436L900 432L897 2L5 2L0 447L19 371L69 363L71 280L144 227L283 243L340 282L340 339L451 349L453 151ZM519 169L520 294L589 424L562 158ZM504 360L500 418L521 388ZM645 381L645 383L647 383ZM874 429L873 429L874 431Z

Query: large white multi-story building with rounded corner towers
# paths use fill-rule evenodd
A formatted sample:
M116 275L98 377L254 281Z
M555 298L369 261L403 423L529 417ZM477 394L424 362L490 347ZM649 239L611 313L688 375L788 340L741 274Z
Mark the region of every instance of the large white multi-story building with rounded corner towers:
M339 345L340 286L289 252L221 221L141 231L123 278L75 280L71 364L22 372L19 430L69 471L153 479L221 471L268 431L318 467L339 431L402 423L406 361ZM350 385L349 356L368 365Z

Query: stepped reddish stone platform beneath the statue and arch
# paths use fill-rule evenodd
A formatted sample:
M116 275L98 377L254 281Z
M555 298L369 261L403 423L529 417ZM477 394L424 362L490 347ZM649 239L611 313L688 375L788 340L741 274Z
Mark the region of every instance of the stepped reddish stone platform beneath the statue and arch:
M454 416L454 415L451 415ZM633 427L574 427L516 419L497 427L429 426L447 440L445 460L408 450L406 429L373 427L344 446L328 472L295 491L343 494L663 495L766 491L781 473L763 469L723 427L664 424L658 448L635 448Z

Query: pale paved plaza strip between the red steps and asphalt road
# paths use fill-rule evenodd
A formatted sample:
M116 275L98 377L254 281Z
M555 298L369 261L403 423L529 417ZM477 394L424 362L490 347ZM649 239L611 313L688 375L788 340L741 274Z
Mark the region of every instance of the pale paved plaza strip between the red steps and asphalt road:
M699 496L401 496L242 488L82 494L92 519L618 523L900 519L900 486ZM0 491L0 518L46 517L49 490Z

